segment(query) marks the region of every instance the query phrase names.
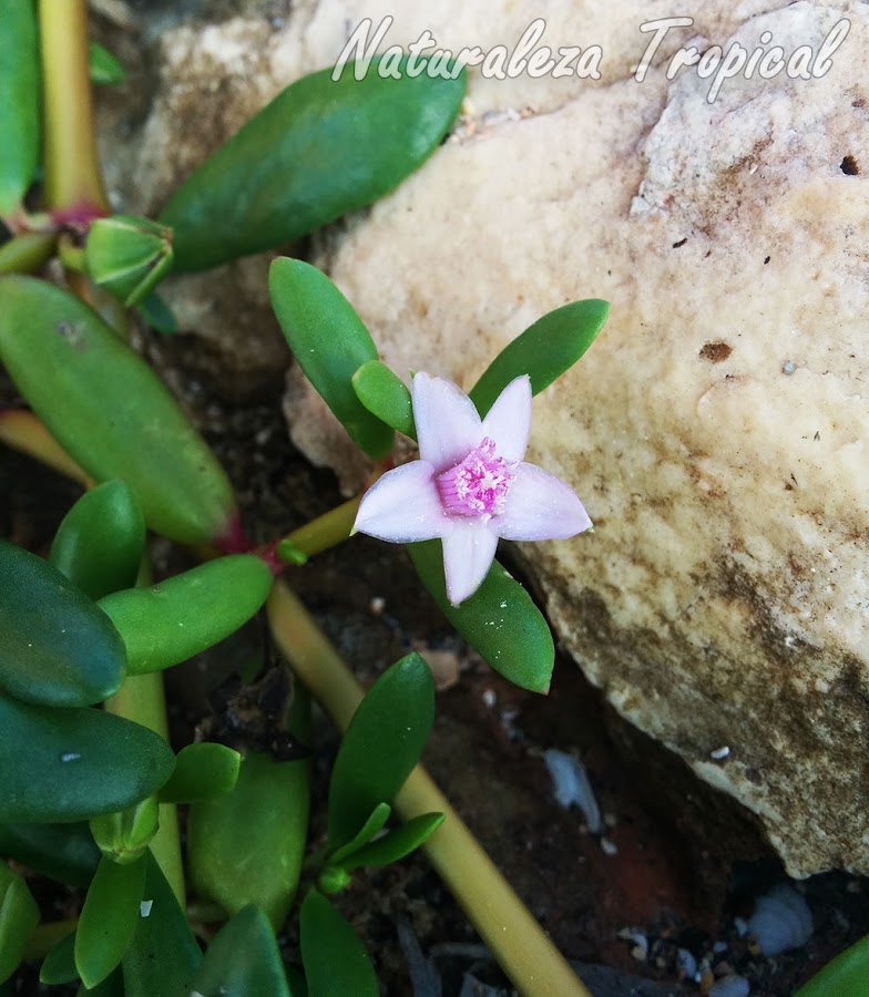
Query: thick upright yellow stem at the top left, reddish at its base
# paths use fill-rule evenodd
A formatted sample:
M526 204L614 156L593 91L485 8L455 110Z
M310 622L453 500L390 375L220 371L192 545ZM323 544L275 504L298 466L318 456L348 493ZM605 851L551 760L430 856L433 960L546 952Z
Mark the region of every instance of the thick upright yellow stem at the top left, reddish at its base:
M106 209L96 161L85 0L39 0L49 208Z

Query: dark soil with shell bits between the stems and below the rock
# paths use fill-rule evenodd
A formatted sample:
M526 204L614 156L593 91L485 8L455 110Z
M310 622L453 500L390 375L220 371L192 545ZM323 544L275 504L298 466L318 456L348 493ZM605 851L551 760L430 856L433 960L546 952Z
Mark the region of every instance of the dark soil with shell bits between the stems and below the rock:
M144 345L171 384L186 386L182 401L233 479L255 542L341 501L331 474L310 467L288 441L280 377L238 399L226 390L227 371L203 366L195 337L145 337ZM0 379L0 407L21 404ZM0 535L45 553L79 491L0 445ZM187 563L164 542L152 553L159 569ZM510 552L502 554L509 561ZM595 997L706 994L730 972L747 978L754 997L789 997L869 932L867 881L816 876L798 884L815 921L808 944L761 957L735 918L750 914L753 898L784 873L750 815L626 724L573 661L559 659L548 697L501 679L451 631L400 548L355 537L292 569L289 580L365 681L410 649L429 658L441 689L425 763ZM263 650L263 627L248 627L241 640L168 672L176 747L208 716L207 693L252 649ZM336 746L320 718L313 743L313 846L324 833ZM548 748L584 762L603 835L590 834L582 815L554 799L542 759ZM47 917L69 915L80 901L50 884L33 885ZM338 902L374 955L384 994L512 993L422 855L355 874ZM292 959L292 933L282 941ZM679 949L692 954L696 969L686 974ZM12 993L48 991L25 967Z

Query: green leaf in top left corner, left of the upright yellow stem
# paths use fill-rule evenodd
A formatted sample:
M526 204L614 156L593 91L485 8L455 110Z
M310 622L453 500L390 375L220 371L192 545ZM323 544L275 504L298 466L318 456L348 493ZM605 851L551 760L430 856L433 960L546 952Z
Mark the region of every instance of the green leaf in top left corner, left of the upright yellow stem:
M19 207L39 157L39 39L33 0L0 0L0 215Z

